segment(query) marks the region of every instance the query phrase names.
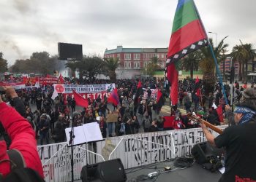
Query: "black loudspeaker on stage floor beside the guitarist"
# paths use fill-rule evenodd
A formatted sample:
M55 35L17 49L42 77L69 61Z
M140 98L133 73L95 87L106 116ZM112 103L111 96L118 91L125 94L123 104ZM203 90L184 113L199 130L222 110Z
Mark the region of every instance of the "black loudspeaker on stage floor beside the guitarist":
M218 149L215 146L212 146L209 142L197 143L193 146L192 155L195 158L195 162L202 165L209 162L211 159L220 159L224 153L224 149Z

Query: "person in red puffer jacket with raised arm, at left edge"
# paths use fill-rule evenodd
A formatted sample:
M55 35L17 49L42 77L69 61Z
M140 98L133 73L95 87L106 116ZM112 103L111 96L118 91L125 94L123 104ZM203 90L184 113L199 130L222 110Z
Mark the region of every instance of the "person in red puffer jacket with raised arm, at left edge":
M18 98L17 93L12 87L4 87L4 90L12 100ZM35 170L42 178L44 178L42 163L37 152L35 132L32 129L31 124L29 124L23 116L20 116L15 108L4 103L4 101L1 100L1 96L0 122L12 140L10 149L19 151L24 159L26 167ZM7 154L7 144L5 141L0 141L0 174L4 177L10 173L9 159Z

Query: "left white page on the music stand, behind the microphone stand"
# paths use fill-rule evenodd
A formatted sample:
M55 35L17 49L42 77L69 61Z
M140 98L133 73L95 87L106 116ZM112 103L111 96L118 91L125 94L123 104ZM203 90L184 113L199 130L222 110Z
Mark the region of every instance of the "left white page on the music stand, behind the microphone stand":
M67 145L71 146L71 143L69 144L71 127L66 128L65 132L67 137ZM84 135L83 127L74 127L73 135L75 136L73 146L86 143L86 136Z

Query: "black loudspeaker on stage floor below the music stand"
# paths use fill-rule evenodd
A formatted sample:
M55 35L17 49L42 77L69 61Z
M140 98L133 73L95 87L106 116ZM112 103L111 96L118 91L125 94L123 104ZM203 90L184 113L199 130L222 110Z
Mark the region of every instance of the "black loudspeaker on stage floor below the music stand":
M121 159L113 159L87 165L82 168L80 178L83 182L123 182L127 181Z

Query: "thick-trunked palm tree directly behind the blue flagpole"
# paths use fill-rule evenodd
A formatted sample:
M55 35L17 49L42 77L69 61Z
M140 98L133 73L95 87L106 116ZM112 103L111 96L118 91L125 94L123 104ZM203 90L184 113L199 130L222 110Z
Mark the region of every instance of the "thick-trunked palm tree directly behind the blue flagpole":
M224 39L222 39L217 47L213 47L214 55L215 58L217 59L217 63L223 59L223 52L227 51L228 44L224 44L224 40L227 38L225 36ZM212 39L209 39L210 44L213 45ZM205 80L206 83L206 93L212 92L214 89L214 83L216 82L216 78L214 76L214 69L216 68L216 65L214 63L214 58L211 54L211 48L210 47L203 47L200 49L200 55L201 55L201 60L200 60L200 68L202 68L203 71L203 79Z

